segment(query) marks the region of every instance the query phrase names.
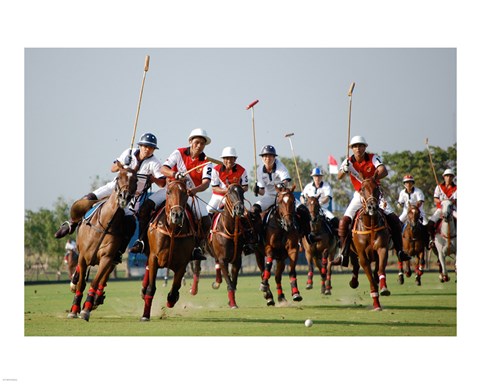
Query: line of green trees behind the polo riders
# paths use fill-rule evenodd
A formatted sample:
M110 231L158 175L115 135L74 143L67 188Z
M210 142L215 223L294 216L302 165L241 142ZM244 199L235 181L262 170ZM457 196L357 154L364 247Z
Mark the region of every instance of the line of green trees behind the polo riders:
M433 160L435 173L439 182L443 181L442 173L446 168L451 168L456 174L457 171L457 145L446 150L430 146L430 153ZM411 174L415 178L415 185L420 188L425 194L425 212L429 214L433 209L433 191L436 186L435 177L433 175L430 159L426 150L424 151L403 151L395 153L383 152L380 154L384 164L388 169L388 176L382 180L383 192L392 205L396 208L396 201L400 190L403 188L403 176ZM340 159L339 164L344 158ZM288 168L293 181L297 185L297 191L300 190L298 183L297 171L295 162L292 157L280 157L280 160ZM302 186L305 187L312 178L310 173L312 169L317 166L310 160L303 160L296 157L298 171L302 181ZM330 175L328 169L323 169L324 180L328 181L333 189L333 199L337 205L346 207L350 202L353 194L353 188L348 179L337 180L337 175ZM251 171L251 180L254 170ZM96 189L102 182L98 176L92 182L91 190ZM70 206L61 197L57 199L53 209L40 209L39 211L25 210L25 257L27 256L49 255L49 265L54 269L60 269L63 262L63 254L65 252L65 241L58 241L53 234L58 229L58 226L66 221L69 217ZM399 213L399 210L397 210ZM338 216L343 212L334 212ZM71 235L73 238L74 235ZM67 237L68 238L68 237ZM65 238L65 240L67 239ZM26 265L28 268L28 265Z

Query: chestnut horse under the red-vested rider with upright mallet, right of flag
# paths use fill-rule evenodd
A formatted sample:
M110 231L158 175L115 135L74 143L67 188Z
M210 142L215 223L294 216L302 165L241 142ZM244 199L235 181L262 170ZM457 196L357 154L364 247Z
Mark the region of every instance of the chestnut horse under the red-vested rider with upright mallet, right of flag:
M373 308L381 311L380 295L389 296L385 268L388 261L388 245L390 232L383 211L379 207L380 188L373 178L362 181L360 188L362 208L355 215L352 226L352 245L350 250L356 255L352 258L353 276L350 281L352 288L358 287L359 262L370 283L370 296ZM375 262L372 271L371 263ZM377 279L378 276L378 279Z

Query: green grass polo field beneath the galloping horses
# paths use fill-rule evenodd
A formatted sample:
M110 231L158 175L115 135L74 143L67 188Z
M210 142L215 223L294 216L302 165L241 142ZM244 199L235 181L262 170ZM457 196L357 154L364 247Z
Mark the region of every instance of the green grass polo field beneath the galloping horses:
M92 312L90 321L67 319L73 299L67 283L25 286L25 336L456 336L457 296L455 275L440 283L437 273L426 273L423 284L414 277L404 285L396 274L387 275L391 296L381 297L383 311L372 310L368 282L360 275L356 290L348 286L350 274L333 275L331 296L320 293L315 275L313 290L305 289L306 275L299 275L303 301L291 300L288 276L283 284L288 303L267 307L259 291L258 276L240 276L238 309L227 305L225 283L211 288L213 277L200 280L199 293L189 293L191 279L180 291L174 308L164 308L170 290L157 281L150 322L140 322L143 300L140 281L112 280L106 300ZM275 282L271 279L272 287ZM273 291L273 289L272 289ZM275 292L274 292L275 294ZM275 294L276 299L276 294ZM311 328L304 326L312 319Z

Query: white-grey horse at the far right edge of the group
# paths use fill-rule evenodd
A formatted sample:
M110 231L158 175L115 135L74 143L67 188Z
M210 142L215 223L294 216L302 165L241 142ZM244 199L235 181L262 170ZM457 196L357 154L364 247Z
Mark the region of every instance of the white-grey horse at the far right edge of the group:
M440 229L435 235L435 246L438 250L438 261L442 267L442 272L439 276L440 281L446 282L450 280L447 271L446 257L453 258L455 255L455 273L456 267L456 253L457 253L457 229L453 221L453 205L451 200L442 201L442 222Z

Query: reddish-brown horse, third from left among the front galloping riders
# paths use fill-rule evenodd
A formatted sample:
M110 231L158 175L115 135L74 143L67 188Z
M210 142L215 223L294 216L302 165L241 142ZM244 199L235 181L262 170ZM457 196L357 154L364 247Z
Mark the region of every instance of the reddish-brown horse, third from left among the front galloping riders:
M222 276L227 283L228 305L238 308L235 301L238 273L242 268L242 250L245 243L241 220L245 218L244 191L240 184L230 184L225 193L222 212L215 214L210 236L209 253L215 258L216 280L212 284L218 289ZM229 274L229 264L231 266Z

